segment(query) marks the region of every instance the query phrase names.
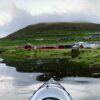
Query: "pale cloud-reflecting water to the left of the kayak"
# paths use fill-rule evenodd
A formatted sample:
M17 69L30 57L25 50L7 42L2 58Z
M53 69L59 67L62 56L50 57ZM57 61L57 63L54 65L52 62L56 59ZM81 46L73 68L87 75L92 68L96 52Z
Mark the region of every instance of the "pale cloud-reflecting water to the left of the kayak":
M35 91L40 73L20 73L13 67L0 64L0 100L29 100Z

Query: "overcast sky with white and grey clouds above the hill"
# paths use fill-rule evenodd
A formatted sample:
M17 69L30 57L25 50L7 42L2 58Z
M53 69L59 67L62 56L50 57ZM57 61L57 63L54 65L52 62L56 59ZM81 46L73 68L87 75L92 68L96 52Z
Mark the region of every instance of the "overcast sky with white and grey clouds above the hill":
M100 0L0 0L0 37L40 22L100 23Z

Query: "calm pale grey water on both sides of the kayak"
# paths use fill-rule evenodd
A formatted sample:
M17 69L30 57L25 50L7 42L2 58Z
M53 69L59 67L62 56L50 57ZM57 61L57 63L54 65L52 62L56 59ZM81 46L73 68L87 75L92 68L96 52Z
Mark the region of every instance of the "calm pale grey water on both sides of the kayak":
M29 100L43 83L36 80L41 73L19 73L0 64L0 100ZM100 100L100 79L66 77L60 83L74 100Z

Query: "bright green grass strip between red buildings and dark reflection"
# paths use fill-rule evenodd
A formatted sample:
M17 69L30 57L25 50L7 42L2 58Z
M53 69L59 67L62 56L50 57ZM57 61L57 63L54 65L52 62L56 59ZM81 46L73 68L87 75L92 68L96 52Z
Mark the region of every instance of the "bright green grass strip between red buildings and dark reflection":
M36 49L25 50L21 48L10 49L1 54L5 59L50 59L50 58L68 58L69 61L78 63L100 63L100 50L99 49L80 49L80 55L76 58L71 57L71 49Z

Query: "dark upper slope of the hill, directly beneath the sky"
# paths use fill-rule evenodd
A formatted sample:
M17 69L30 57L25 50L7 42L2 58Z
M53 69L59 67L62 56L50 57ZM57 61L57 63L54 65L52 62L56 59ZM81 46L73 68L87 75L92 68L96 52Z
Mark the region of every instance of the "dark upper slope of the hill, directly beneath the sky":
M100 31L100 24L94 23L40 23L27 26L6 37L6 39L35 38L42 35L66 33L70 31Z

